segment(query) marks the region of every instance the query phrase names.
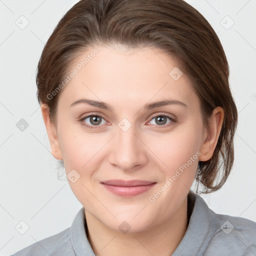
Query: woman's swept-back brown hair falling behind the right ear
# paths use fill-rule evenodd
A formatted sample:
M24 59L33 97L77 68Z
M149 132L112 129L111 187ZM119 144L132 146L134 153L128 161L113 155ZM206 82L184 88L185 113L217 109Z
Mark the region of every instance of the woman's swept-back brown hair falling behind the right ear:
M237 109L224 50L207 20L183 0L77 2L50 35L37 67L37 98L47 104L53 123L61 91L52 98L47 95L61 83L75 57L102 43L152 46L174 57L199 97L205 127L212 110L223 108L224 120L214 153L209 160L199 161L196 174L197 190L199 182L203 193L219 189L233 165ZM221 178L216 182L218 176Z

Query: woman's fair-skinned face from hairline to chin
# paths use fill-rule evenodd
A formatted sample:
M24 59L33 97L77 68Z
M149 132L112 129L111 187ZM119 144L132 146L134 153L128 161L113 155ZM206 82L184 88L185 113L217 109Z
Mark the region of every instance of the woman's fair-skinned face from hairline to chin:
M199 98L160 49L96 48L70 64L51 146L91 216L146 230L175 216L194 180L206 138Z

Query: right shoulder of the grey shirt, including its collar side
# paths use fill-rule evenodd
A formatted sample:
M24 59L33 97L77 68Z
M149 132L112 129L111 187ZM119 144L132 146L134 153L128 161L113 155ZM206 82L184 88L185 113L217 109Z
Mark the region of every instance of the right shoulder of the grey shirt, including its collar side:
M203 256L256 255L256 222L218 214L198 194L192 197L195 203L183 246Z

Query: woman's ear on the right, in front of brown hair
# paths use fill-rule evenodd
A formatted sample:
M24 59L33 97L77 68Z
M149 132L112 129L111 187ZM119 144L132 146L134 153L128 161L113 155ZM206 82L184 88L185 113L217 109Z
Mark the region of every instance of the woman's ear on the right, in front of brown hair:
M203 143L200 148L199 161L207 161L212 157L213 151L216 147L218 136L221 130L221 126L224 118L224 110L222 107L217 106L213 109L212 115L209 120L209 127L204 128Z

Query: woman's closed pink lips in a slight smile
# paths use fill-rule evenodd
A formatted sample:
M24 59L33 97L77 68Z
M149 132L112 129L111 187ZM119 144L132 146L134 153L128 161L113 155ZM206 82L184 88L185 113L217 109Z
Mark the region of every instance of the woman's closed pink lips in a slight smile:
M156 182L147 180L111 179L100 182L108 191L123 197L131 197L151 189Z

